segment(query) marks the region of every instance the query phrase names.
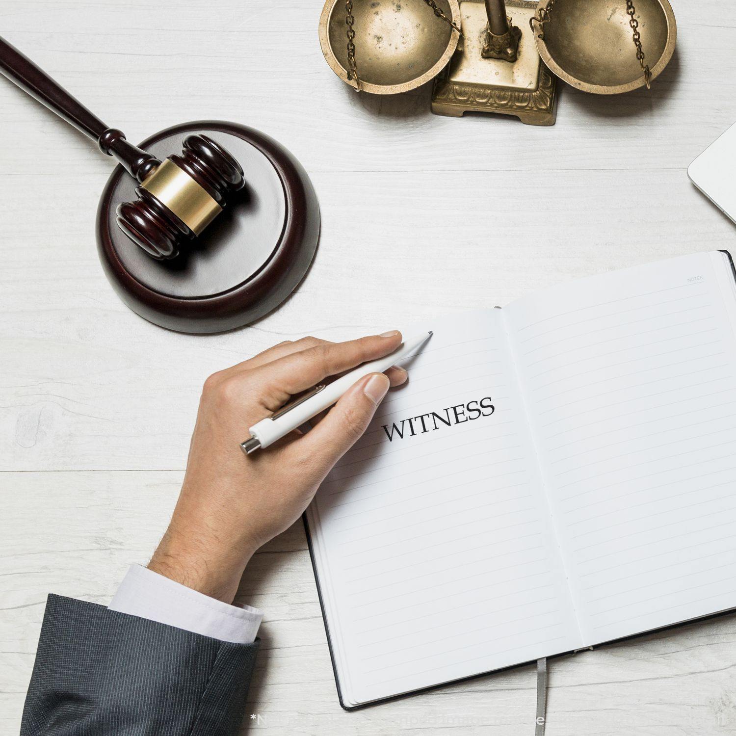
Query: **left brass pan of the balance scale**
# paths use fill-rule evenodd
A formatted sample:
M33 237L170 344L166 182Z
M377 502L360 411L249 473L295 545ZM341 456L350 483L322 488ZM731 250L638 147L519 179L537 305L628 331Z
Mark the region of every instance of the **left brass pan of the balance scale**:
M436 0L460 25L458 0ZM408 92L423 85L450 61L459 33L437 18L424 0L355 0L355 62L361 90ZM319 43L332 71L347 79L347 24L344 0L327 0L319 19Z

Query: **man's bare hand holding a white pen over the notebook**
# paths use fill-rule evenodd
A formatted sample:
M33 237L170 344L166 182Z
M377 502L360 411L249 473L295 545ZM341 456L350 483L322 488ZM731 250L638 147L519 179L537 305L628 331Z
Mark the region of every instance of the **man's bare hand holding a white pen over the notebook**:
M283 342L205 381L171 523L148 567L231 603L252 554L289 528L342 455L364 433L389 385L406 371L355 383L307 434L245 456L248 428L310 389L401 344L394 331L342 343Z

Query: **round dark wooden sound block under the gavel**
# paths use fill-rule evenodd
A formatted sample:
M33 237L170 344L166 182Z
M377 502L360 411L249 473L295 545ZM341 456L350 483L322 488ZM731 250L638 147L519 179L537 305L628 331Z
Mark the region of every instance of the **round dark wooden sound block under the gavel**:
M291 294L314 258L319 205L306 171L267 135L236 123L196 121L167 128L141 144L160 160L180 153L189 133L204 133L243 167L245 188L169 261L155 261L116 223L135 180L117 166L97 210L97 246L121 299L149 322L179 332L242 327Z

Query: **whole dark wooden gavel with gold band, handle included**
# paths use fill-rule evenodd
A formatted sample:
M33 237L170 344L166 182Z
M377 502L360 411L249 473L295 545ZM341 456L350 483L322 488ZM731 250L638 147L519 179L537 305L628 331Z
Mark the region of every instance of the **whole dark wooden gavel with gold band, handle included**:
M208 135L188 135L182 154L163 161L134 146L3 38L0 73L96 141L138 180L138 199L118 206L117 223L152 258L174 258L245 185L238 161Z

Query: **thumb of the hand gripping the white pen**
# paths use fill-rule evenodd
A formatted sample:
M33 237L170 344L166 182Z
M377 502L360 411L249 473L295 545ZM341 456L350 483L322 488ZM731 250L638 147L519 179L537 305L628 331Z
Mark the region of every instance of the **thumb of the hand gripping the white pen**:
M327 464L327 472L366 431L389 385L389 379L383 373L364 376L342 395L327 416L297 444L311 449L314 456L319 456ZM305 447L308 444L312 447Z

